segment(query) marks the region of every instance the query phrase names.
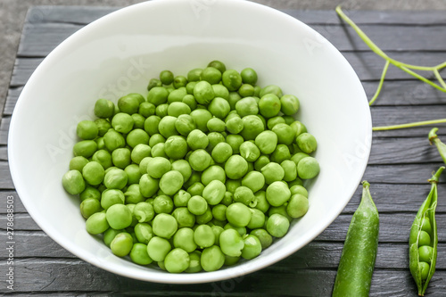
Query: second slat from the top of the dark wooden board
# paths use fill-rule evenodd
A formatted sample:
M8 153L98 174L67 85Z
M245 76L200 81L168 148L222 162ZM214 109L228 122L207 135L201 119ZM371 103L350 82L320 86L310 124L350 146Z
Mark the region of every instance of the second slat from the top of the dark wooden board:
M83 25L72 23L28 23L18 50L20 57L45 57L64 39L70 37ZM326 37L340 51L368 51L366 45L351 27L340 25L311 25L312 29ZM442 25L420 27L393 25L383 30L381 26L363 25L361 29L372 40L376 40L384 51L440 51L446 48L446 37ZM432 42L435 40L435 42Z

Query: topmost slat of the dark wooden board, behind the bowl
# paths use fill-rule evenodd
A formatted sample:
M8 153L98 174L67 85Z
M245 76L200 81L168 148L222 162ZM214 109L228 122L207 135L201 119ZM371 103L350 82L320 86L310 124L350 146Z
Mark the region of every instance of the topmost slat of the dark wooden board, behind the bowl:
M64 6L41 5L31 7L26 21L29 23L45 22L70 22L87 24L99 19L105 14L114 12L120 7L96 7L96 6ZM354 8L354 7L353 7ZM342 20L333 10L330 11L305 11L284 9L283 12L303 21L307 24L341 24ZM357 24L406 24L406 25L438 25L446 24L443 12L439 11L356 11L343 8Z

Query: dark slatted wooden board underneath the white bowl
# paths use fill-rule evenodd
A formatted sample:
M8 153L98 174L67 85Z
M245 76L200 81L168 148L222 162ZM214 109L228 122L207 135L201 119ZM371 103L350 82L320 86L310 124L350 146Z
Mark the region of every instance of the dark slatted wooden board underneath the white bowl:
M357 209L360 187L335 222L312 243L277 264L224 282L203 285L145 283L96 268L54 243L37 227L14 191L6 153L7 131L14 104L29 75L56 45L87 23L112 12L104 7L32 8L21 37L11 85L0 124L0 248L1 293L42 296L106 295L213 295L329 296L343 250L343 240ZM335 12L286 11L330 40L357 71L368 97L380 78L384 61L372 53ZM393 58L436 65L446 60L444 12L348 12L351 19ZM431 75L430 73L428 75ZM446 71L442 72L443 77ZM38 98L36 98L38 100ZM374 126L446 118L446 94L391 66L382 95L371 108ZM446 125L439 125L446 141ZM426 179L442 165L427 141L429 127L374 132L364 178L380 212L381 226L371 296L416 296L408 268L409 228L430 185ZM347 131L346 131L347 132ZM439 186L437 271L428 296L446 296L446 177ZM13 196L14 291L6 288L8 252L6 200Z

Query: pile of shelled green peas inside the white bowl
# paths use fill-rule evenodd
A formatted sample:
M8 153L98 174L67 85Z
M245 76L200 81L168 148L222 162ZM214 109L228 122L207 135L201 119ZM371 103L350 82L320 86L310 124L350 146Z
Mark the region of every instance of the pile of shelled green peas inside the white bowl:
M317 141L295 120L298 98L257 79L212 61L161 71L146 96L97 100L62 177L87 232L170 273L251 260L284 236L309 209Z

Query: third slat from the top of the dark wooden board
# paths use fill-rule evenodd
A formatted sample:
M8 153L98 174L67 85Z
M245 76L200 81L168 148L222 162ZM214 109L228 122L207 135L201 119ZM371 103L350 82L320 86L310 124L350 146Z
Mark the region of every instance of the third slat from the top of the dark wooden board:
M384 60L371 52L344 52L344 57L351 63L351 66L358 74L361 80L377 81L381 77L384 67ZM402 62L415 63L418 65L434 66L444 62L444 52L422 53L422 52L395 52L391 54L392 58ZM36 70L37 65L42 62L42 58L18 58L12 71L11 87L21 87L29 79L30 75ZM425 74L426 77L429 77ZM446 78L446 71L442 71L442 77ZM389 67L387 79L417 80L406 72Z

